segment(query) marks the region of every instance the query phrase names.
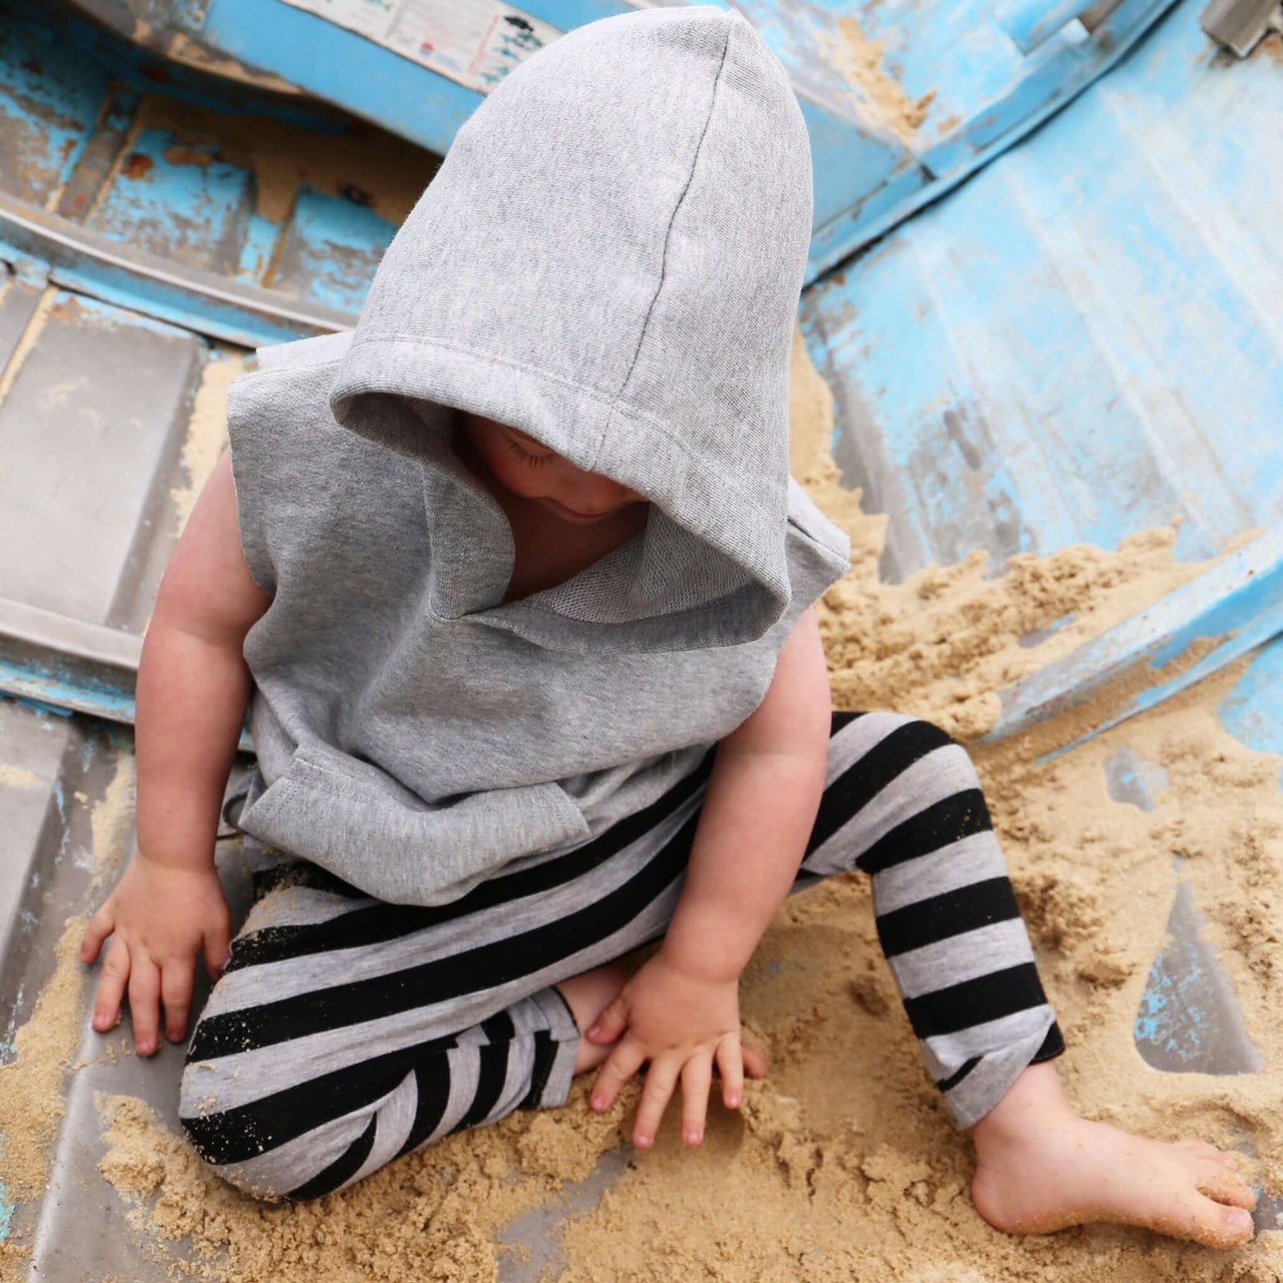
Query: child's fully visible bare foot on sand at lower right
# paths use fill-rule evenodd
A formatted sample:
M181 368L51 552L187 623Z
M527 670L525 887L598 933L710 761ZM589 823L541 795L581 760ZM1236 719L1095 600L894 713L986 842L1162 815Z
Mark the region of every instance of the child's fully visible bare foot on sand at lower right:
M1166 1144L1080 1119L1053 1065L1030 1065L973 1129L976 1211L1010 1234L1096 1220L1206 1247L1252 1237L1256 1194L1236 1160L1202 1141Z

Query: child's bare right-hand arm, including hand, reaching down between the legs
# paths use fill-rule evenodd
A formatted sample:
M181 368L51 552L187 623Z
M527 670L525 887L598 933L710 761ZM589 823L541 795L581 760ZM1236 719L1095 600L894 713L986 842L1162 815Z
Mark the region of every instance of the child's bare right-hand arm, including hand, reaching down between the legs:
M650 1061L634 1128L639 1146L653 1142L679 1080L683 1134L699 1143L715 1062L725 1103L739 1105L739 974L802 862L824 792L830 716L820 630L807 611L780 650L766 698L717 747L663 946L589 1030L598 1043L620 1039L594 1085L595 1109Z

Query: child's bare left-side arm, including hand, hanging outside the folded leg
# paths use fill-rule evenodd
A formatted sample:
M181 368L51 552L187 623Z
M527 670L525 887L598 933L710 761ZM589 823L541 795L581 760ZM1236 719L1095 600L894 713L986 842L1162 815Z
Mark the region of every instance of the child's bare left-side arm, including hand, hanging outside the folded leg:
M183 1037L204 949L227 956L227 906L214 872L223 786L249 699L245 634L269 599L245 565L230 457L223 455L174 549L148 626L137 686L139 852L90 920L81 957L113 935L94 1003L109 1029L126 988L141 1055Z

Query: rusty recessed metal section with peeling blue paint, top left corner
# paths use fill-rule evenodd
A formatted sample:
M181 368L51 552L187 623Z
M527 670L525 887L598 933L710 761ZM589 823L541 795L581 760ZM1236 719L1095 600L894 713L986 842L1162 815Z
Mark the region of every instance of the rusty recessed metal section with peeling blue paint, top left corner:
M439 163L0 0L0 258L63 285L239 343L350 325L394 231L367 208L380 160L398 209Z

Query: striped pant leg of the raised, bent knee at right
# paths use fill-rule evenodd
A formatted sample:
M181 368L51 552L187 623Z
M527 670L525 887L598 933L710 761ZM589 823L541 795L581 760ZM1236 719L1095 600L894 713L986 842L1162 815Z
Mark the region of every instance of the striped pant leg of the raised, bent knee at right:
M799 887L871 875L883 951L953 1123L1065 1049L966 751L929 722L835 713Z

